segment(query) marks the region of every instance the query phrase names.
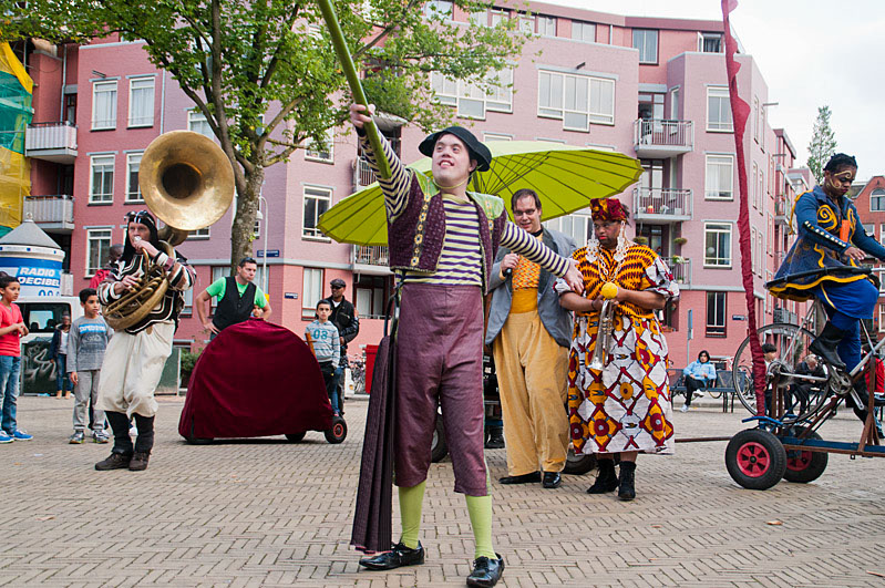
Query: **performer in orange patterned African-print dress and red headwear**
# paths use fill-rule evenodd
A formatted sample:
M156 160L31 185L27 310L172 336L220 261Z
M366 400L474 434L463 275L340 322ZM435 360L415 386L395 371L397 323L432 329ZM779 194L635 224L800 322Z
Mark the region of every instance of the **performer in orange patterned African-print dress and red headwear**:
M568 416L576 453L595 453L599 475L587 491L636 497L636 457L672 453L673 427L667 379L667 341L654 310L679 296L670 270L645 245L625 236L627 210L619 200L593 200L595 236L573 254L584 275L584 295L565 292L559 303L575 311L568 362ZM589 368L596 345L600 290L615 283L611 344L601 371ZM615 475L620 456L620 476Z

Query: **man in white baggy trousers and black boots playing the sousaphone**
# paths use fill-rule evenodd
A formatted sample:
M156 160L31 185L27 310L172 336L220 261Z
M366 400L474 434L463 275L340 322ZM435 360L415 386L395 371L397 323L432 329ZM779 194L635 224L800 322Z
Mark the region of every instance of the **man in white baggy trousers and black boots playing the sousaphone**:
M99 300L107 306L135 288L144 272L144 254L165 270L168 288L159 302L134 324L114 333L107 344L99 384L97 409L114 432L111 455L95 470L147 468L154 445L154 390L159 383L172 339L184 306L184 292L194 285L194 270L181 256L162 250L156 220L147 210L126 215L126 243L123 256L111 267L111 275L99 286ZM138 436L133 447L130 419L135 419Z

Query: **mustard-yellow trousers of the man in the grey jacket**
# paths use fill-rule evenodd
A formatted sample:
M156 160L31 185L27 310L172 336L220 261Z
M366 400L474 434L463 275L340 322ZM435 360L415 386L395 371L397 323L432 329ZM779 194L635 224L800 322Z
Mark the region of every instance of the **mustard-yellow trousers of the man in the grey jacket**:
M494 341L507 474L562 472L568 451L565 412L568 350L550 337L536 310L511 314Z

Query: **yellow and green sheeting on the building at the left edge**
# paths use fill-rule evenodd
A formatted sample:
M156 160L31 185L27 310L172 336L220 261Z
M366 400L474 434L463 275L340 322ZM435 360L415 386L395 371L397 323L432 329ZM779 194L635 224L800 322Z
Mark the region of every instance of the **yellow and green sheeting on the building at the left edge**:
M24 132L33 118L33 81L12 52L0 43L0 233L21 224L31 195L31 166L24 157Z

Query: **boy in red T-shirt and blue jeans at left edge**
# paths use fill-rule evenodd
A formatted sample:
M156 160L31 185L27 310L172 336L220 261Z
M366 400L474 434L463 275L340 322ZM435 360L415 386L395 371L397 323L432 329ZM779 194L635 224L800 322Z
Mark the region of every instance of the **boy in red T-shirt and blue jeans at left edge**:
M20 431L16 421L16 403L19 400L19 373L21 372L21 338L28 327L16 305L21 285L14 276L0 277L0 405L2 430L0 443L30 441L33 435Z

